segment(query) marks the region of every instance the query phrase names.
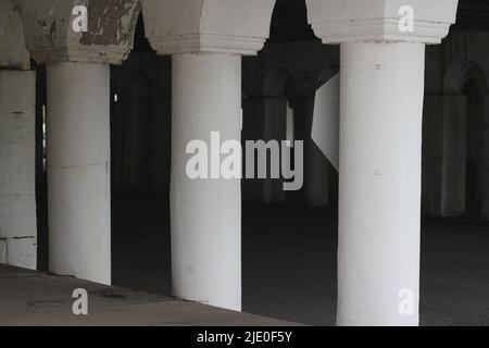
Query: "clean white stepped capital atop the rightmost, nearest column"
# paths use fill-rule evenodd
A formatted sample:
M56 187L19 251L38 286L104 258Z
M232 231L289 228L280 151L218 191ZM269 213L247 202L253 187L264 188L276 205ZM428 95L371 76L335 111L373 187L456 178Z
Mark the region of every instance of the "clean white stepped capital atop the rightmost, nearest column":
M455 23L459 0L306 0L324 44L439 44Z

